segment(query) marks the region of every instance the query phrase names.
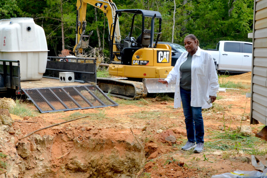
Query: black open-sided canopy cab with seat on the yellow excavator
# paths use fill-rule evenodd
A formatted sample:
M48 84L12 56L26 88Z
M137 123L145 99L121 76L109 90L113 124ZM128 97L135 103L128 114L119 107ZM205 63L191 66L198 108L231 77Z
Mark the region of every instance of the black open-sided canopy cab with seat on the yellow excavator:
M128 36L126 36L124 39L121 39L120 42L115 42L114 37L115 29L117 26L117 18L121 16L121 14L127 13L128 16L131 16L131 27L129 28L130 32ZM136 18L139 16L139 19L141 19L140 24L135 24ZM141 16L141 18L140 18ZM145 29L145 19L150 18L150 23L146 25L150 26L150 29ZM155 19L157 19L157 32L155 31ZM142 9L122 9L122 10L116 10L115 14L115 20L114 24L112 24L112 28L114 29L110 33L110 59L111 63L114 64L123 64L123 65L132 65L132 57L134 53L142 48L156 48L158 39L161 35L161 14L156 11L150 11L150 10L142 10ZM137 26L137 27L135 27ZM135 39L134 37L134 28L141 29L141 33L139 36ZM156 43L154 44L154 35L157 34ZM114 43L115 42L115 43ZM118 51L114 51L114 45L117 46Z

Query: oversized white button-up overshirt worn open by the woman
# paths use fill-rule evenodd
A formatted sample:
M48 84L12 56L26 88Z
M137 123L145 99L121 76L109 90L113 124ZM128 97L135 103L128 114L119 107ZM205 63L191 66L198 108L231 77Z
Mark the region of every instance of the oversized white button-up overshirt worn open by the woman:
M168 84L175 84L174 108L181 107L180 96L180 66L187 60L188 52L182 53L177 60L174 68L170 71L165 79ZM215 69L212 55L200 49L192 57L191 64L191 106L209 108L212 104L208 104L209 96L217 96L219 89L218 76Z

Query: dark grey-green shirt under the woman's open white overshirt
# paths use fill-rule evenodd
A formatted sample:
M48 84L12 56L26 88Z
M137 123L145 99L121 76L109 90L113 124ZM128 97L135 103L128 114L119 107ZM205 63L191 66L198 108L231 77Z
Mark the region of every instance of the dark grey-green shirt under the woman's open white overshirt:
M191 90L191 63L192 56L188 53L187 60L180 66L182 72L180 86L185 90Z

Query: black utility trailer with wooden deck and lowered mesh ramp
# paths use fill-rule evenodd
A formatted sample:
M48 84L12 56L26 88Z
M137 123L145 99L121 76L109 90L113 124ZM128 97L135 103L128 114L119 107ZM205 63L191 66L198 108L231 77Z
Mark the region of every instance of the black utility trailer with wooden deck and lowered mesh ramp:
M41 113L118 105L96 86L95 58L55 59L66 57L48 57L43 78L35 81L20 81L20 61L0 60L0 93L25 94ZM75 82L60 82L59 72L73 72Z

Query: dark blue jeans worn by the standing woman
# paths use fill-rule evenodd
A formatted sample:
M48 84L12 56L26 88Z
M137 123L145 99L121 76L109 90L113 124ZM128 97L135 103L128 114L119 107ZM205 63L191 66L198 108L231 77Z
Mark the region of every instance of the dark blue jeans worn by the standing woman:
M189 142L204 143L204 123L201 107L191 107L191 90L180 87L180 95L185 115L185 126Z

